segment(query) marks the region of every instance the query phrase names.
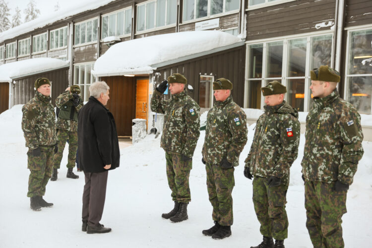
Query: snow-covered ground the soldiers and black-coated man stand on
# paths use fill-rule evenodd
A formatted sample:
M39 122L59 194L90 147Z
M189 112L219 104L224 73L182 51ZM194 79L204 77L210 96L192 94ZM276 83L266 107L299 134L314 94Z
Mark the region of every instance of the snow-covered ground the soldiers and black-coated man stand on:
M81 231L83 173L77 180L67 179L67 149L64 150L59 179L49 182L45 199L52 208L40 212L30 209L27 198L27 148L21 130L21 105L0 115L0 248L243 248L259 244L262 237L252 203L252 182L243 176L244 159L253 136L248 127L248 144L236 168L233 235L216 241L201 234L213 225L208 201L206 174L201 160L205 132L201 131L190 175L192 201L188 220L171 223L161 213L173 207L166 179L164 151L160 137L148 135L121 150L121 165L109 172L105 210L101 223L113 228L108 234L89 235ZM305 227L304 186L300 162L304 151L301 136L299 157L291 168L287 195L289 218L287 248L311 248ZM365 154L359 163L343 217L346 248L370 247L372 243L372 143L363 142ZM76 172L75 172L76 173Z

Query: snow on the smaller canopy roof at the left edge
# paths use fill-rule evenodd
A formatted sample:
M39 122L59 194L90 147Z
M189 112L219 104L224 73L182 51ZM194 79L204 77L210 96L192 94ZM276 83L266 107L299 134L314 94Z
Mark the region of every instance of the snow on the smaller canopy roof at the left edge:
M32 75L67 67L68 61L52 58L35 58L0 65L0 82L11 82L13 78Z

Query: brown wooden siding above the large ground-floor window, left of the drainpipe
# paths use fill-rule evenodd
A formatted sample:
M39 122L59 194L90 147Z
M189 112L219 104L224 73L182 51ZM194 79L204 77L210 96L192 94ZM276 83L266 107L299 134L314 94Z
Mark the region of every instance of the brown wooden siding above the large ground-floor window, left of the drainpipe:
M316 29L321 22L334 22L335 0L298 0L247 13L247 40L329 30Z

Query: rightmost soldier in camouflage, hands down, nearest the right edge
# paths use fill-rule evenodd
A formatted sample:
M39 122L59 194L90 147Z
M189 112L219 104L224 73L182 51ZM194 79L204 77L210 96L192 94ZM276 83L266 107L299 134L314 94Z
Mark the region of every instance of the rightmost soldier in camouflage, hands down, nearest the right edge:
M339 73L328 65L311 72L313 108L306 118L301 162L306 227L314 248L343 248L346 194L363 156L361 117L337 92Z

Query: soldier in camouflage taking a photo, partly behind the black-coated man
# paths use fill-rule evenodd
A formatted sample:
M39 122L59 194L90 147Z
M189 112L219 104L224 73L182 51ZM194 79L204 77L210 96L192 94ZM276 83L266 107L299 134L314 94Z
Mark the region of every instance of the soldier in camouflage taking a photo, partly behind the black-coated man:
M67 178L77 179L79 176L72 172L75 167L77 150L77 112L83 107L83 100L79 96L80 87L72 85L56 99L56 106L60 109L57 118L57 140L59 151L54 155L54 166L51 181L56 181L57 170L60 169L64 146L68 139Z

